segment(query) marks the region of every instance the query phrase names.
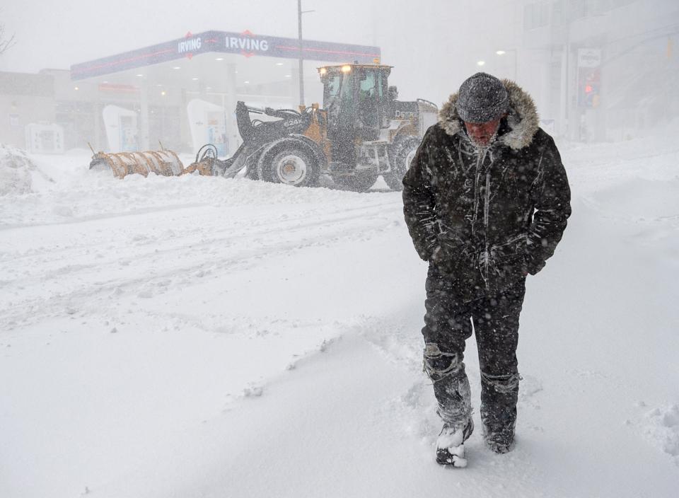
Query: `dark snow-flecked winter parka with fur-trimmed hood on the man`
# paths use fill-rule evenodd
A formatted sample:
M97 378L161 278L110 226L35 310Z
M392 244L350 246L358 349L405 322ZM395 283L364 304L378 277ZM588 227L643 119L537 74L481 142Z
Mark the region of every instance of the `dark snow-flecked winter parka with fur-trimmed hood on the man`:
M557 147L538 125L530 96L503 81L509 111L489 146L472 143L443 105L403 178L405 221L430 276L458 299L497 294L545 266L571 214Z

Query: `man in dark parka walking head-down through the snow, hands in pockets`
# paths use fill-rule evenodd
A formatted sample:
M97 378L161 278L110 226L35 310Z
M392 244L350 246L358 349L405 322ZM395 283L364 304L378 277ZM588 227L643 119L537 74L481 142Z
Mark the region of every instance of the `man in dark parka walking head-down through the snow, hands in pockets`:
M516 424L526 275L538 273L561 240L570 189L533 100L516 83L485 73L443 105L403 186L410 236L429 262L422 334L443 420L436 461L464 467L464 441L474 429L465 340L473 330L484 441L506 453Z

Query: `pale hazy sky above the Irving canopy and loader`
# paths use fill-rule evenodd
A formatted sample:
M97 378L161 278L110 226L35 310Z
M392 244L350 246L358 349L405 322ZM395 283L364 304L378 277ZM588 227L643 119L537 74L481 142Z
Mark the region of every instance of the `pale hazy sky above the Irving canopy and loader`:
M378 45L395 66L403 98L437 103L477 70L511 76L499 47L516 46L521 9L516 1L303 0L304 36L313 40ZM493 12L492 16L489 12ZM296 0L70 0L4 2L0 22L16 45L0 56L0 70L37 72L182 37L191 31L243 31L297 36ZM493 57L497 60L493 61Z

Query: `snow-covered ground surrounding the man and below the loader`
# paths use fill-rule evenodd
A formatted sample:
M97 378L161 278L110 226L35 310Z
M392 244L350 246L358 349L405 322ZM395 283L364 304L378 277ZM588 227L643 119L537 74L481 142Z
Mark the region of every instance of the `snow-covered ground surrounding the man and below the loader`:
M0 197L0 497L677 496L677 131L562 145L517 446L477 430L463 470L434 462L399 193L33 156Z

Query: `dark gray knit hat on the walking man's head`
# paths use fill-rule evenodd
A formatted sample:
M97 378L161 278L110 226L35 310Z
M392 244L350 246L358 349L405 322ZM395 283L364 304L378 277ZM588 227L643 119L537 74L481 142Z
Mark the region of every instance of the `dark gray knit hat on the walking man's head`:
M465 79L460 86L455 108L463 121L492 121L509 108L509 93L495 76L477 73Z

